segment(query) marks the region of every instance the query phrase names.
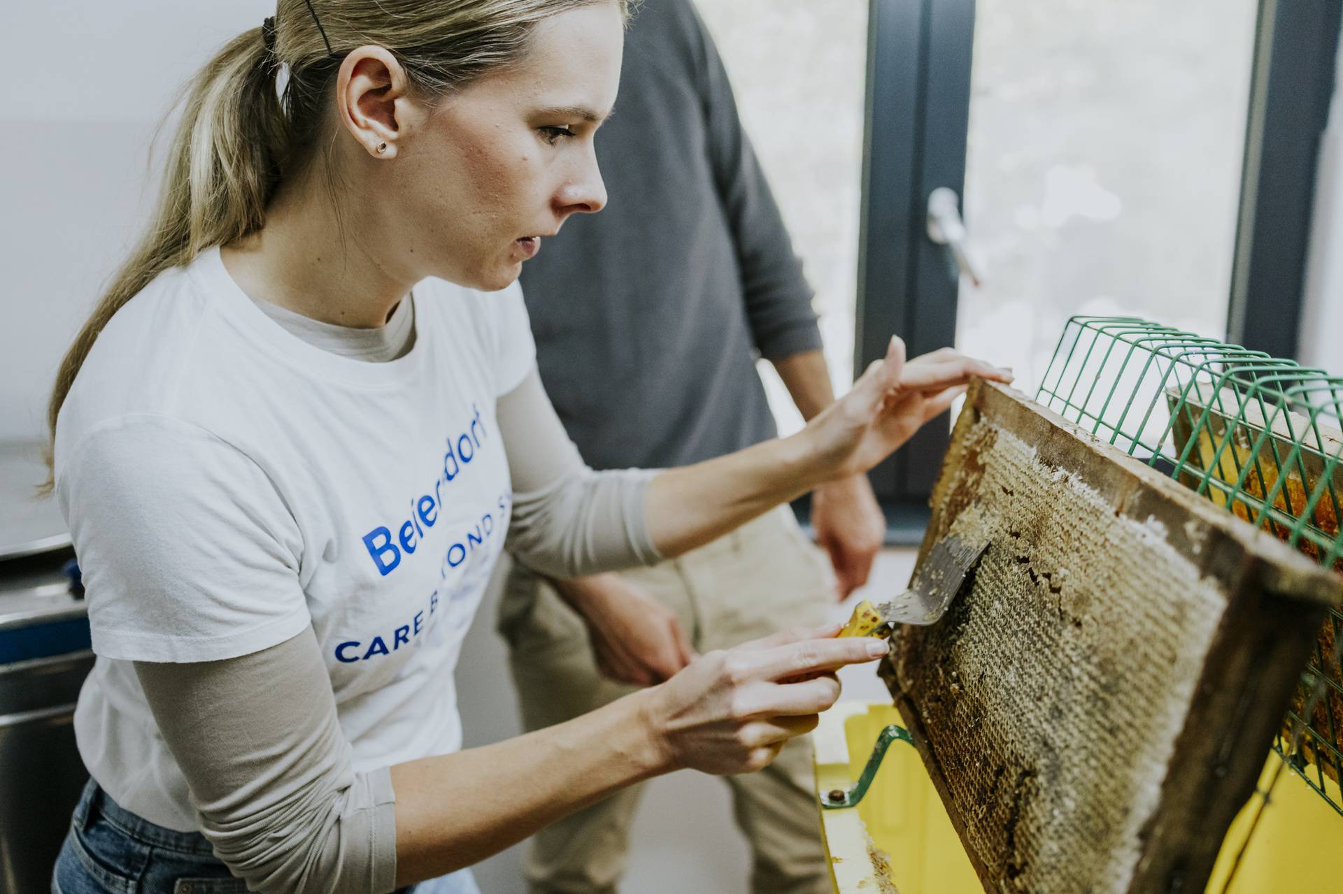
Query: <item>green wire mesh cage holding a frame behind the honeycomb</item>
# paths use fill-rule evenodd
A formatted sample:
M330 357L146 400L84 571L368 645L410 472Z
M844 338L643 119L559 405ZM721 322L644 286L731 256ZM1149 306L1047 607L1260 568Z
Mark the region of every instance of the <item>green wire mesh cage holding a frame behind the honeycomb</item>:
M1339 572L1343 588L1343 377L1133 317L1073 317L1035 400ZM1273 748L1343 813L1340 656L1334 608Z

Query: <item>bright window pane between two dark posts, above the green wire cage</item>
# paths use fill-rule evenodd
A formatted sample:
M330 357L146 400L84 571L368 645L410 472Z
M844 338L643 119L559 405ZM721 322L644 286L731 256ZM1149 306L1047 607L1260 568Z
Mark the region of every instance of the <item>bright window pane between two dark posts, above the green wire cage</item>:
M1257 0L979 0L958 345L1039 384L1073 314L1226 329Z

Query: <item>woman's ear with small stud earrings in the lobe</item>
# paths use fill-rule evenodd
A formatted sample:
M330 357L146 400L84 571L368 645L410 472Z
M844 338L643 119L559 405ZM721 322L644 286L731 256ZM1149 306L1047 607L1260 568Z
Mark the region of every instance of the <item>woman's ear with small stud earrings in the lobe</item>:
M406 68L384 47L359 47L341 62L336 78L341 123L368 154L395 158L416 123Z

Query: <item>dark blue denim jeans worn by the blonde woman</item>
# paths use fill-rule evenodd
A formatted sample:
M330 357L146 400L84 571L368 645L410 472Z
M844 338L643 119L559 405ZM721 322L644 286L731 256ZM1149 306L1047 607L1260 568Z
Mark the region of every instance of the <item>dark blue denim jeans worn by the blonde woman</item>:
M51 877L52 894L246 894L199 832L132 813L89 780ZM396 894L481 894L469 870Z

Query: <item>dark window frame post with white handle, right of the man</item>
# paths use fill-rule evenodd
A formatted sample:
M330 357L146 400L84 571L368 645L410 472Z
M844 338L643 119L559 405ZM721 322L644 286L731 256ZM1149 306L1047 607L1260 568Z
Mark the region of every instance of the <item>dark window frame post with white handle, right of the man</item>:
M962 195L970 125L974 0L870 0L854 375L886 353L955 344L959 275L925 235L927 197ZM936 152L928 148L936 146ZM872 470L886 542L917 544L950 432L927 426Z

